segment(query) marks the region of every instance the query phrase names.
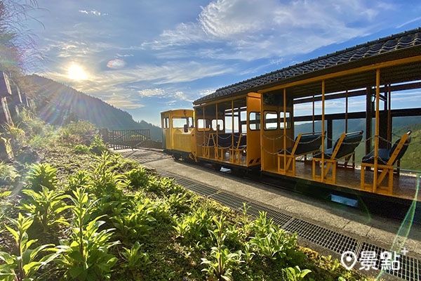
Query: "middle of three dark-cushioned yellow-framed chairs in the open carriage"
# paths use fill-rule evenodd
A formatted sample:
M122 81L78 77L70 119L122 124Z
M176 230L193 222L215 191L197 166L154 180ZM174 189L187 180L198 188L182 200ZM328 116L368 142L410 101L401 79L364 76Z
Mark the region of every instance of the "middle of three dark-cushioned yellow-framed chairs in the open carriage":
M345 168L355 169L355 149L361 143L363 139L363 131L353 133L342 133L340 138L335 141L333 148L328 148L324 151L323 155L320 152L313 157L313 179L316 181L322 181L326 183L336 183L336 168L342 166ZM352 164L349 165L349 159L352 157ZM344 159L343 164L338 162ZM316 162L324 160L326 167L321 167L321 174L316 175ZM332 176L328 176L328 173L332 168Z

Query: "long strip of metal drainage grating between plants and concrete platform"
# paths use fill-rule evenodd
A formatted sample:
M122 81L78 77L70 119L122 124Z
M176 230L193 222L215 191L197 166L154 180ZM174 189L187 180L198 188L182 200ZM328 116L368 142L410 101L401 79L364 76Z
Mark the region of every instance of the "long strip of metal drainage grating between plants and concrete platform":
M242 200L239 197L229 195L225 192L220 192L219 190L211 188L208 185L203 185L201 183L197 183L186 178L181 178L180 176L168 173L166 171L158 171L158 173L162 176L175 178L175 182L184 186L185 188L197 192L201 195L210 196L214 200L217 200L222 204L226 204L228 207L231 207L236 211L243 207L243 202L246 202L247 206L249 207L248 214L250 214L250 216L258 217L260 211L266 211L267 217L273 218L274 223L279 224L281 228L292 233L298 233L299 237L310 242L314 242L315 244L319 244L320 246L330 249L331 251L335 251L338 254L342 254L345 251L353 251L356 254L356 256L359 256L361 251L375 251L377 256L380 257L380 253L382 251L387 251L386 249L382 249L381 247L377 247L373 244L361 242L347 235L342 235L335 231L328 230L327 228L316 226L313 223L302 221L299 218L293 218L292 216L283 214L280 211L267 208L260 204L255 204L253 202ZM403 280L420 280L421 261L403 255L401 255L401 257L399 257L398 259L401 269L386 270L386 273L399 277ZM378 268L379 266L380 262L377 263L376 267Z

